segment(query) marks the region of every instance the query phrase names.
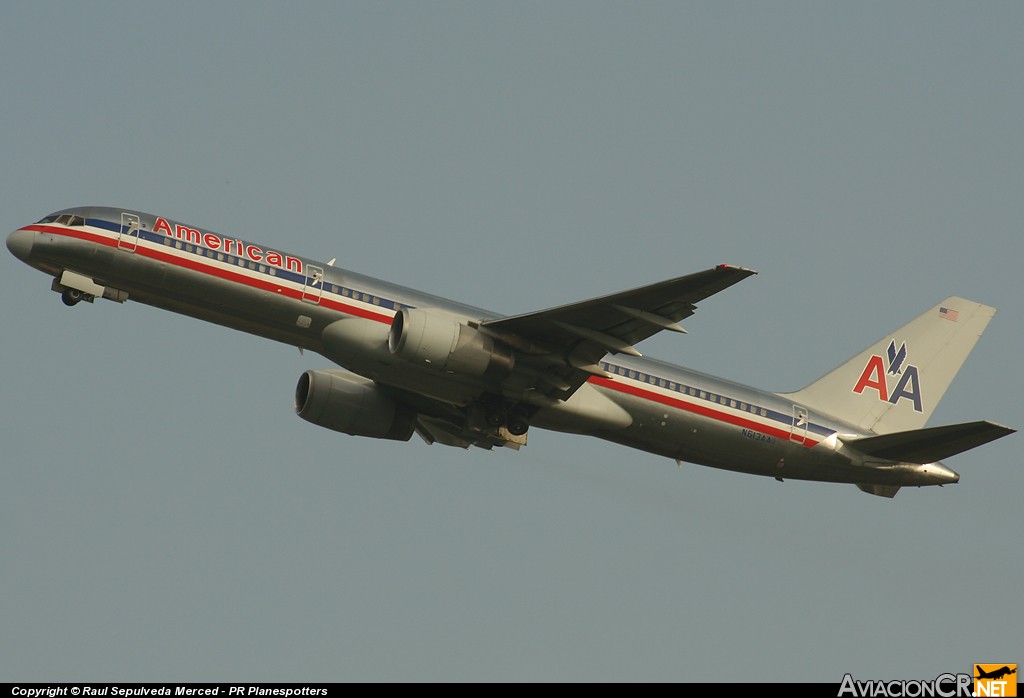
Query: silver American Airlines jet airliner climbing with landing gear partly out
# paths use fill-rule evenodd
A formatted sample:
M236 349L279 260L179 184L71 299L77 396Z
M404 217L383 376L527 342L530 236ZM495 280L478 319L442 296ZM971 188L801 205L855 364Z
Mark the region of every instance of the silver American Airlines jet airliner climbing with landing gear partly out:
M959 476L939 463L1007 436L991 422L926 428L995 310L947 298L793 393L642 357L635 345L755 272L705 271L502 316L163 216L67 209L12 232L65 304L105 298L316 352L295 409L355 436L450 446L526 443L531 427L778 480L892 497Z

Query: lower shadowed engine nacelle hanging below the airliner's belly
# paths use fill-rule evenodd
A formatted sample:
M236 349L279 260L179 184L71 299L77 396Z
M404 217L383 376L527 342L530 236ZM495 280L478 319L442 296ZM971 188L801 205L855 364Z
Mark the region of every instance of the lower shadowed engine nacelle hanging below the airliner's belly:
M346 370L307 370L295 387L295 413L353 436L409 441L416 413L373 381Z

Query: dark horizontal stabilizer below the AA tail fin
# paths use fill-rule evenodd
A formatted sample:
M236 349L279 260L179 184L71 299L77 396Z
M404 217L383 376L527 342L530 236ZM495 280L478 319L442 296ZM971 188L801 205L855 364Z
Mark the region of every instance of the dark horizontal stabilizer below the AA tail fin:
M844 439L843 442L865 455L899 463L924 464L937 463L1015 431L1017 430L993 422L969 422L849 441Z

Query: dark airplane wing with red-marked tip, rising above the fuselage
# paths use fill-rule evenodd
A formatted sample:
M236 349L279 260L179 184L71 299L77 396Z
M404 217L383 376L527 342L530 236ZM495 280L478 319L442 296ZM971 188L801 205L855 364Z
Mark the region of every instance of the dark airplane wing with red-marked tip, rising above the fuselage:
M755 273L720 264L581 303L484 320L479 329L517 350L506 396L535 404L564 400L590 376L605 375L598 365L605 354L639 356L633 346L638 342L663 330L685 332L679 321L692 315L697 303Z

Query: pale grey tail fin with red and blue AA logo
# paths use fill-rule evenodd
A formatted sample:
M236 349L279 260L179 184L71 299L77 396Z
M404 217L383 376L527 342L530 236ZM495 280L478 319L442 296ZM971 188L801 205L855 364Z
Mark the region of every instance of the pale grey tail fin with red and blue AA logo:
M947 298L787 397L877 434L921 429L994 314Z

